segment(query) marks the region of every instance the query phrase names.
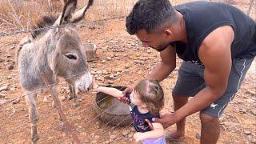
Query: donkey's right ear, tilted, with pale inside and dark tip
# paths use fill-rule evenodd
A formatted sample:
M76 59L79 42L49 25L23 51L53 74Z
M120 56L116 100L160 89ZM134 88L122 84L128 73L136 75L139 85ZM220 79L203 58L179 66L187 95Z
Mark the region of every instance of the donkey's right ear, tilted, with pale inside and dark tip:
M87 6L83 7L81 10L78 10L77 12L74 13L72 18L70 19L71 23L79 22L84 18L86 11L89 9L90 6L92 6L94 3L94 0L89 0Z

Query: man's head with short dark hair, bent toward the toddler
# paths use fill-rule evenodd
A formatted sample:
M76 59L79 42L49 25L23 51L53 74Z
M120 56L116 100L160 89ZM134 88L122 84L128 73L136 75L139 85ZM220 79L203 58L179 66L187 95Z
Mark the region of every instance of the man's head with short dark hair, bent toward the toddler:
M161 51L174 41L170 27L177 21L169 0L139 0L126 17L126 30L136 34L143 46Z

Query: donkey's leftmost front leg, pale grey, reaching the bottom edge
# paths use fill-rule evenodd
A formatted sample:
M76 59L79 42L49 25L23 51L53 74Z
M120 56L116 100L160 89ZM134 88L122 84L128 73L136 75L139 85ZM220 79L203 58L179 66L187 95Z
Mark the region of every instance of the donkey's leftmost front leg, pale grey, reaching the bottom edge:
M37 122L38 122L38 110L36 105L36 94L27 91L26 95L26 104L29 107L29 115L30 115L30 122L31 122L31 136L32 136L32 143L38 142L38 130L37 130Z

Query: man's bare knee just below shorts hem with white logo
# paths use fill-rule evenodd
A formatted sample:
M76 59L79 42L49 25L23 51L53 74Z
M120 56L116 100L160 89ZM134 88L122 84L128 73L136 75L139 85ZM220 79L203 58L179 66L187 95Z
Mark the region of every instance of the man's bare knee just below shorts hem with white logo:
M200 119L201 119L201 124L202 128L203 127L209 127L209 126L218 126L218 118L203 114L202 112L200 113Z

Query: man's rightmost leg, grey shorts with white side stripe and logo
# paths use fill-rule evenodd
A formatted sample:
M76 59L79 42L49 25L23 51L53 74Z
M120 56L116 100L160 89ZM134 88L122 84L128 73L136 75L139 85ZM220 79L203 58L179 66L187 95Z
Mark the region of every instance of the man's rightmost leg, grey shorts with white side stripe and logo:
M234 96L241 86L246 72L250 68L253 60L254 58L234 59L226 92L221 98L218 98L216 102L212 103L210 106L207 106L204 110L201 110L200 119L202 129L200 142L202 144L217 143L220 134L218 118L220 118L228 103L234 99Z

